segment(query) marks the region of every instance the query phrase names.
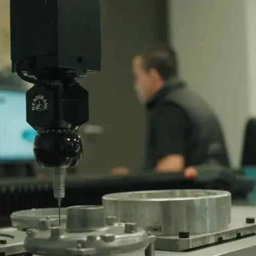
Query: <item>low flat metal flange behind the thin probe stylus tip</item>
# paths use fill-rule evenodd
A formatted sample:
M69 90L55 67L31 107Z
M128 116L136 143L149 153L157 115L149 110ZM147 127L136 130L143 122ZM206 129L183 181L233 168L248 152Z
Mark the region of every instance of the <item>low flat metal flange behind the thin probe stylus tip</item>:
M61 208L61 225L66 225L67 210ZM40 220L40 221L38 221ZM43 208L14 211L11 214L12 226L18 230L27 230L28 228L37 228L38 225L58 225L58 208Z

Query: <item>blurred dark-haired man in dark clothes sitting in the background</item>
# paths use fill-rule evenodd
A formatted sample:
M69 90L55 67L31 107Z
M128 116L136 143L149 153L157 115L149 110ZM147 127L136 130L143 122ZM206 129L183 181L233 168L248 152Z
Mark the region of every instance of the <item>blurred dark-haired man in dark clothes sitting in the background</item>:
M228 166L216 114L178 78L177 69L175 52L167 45L148 46L133 59L135 91L147 116L142 169L164 173L208 162ZM128 172L113 169L114 174Z

